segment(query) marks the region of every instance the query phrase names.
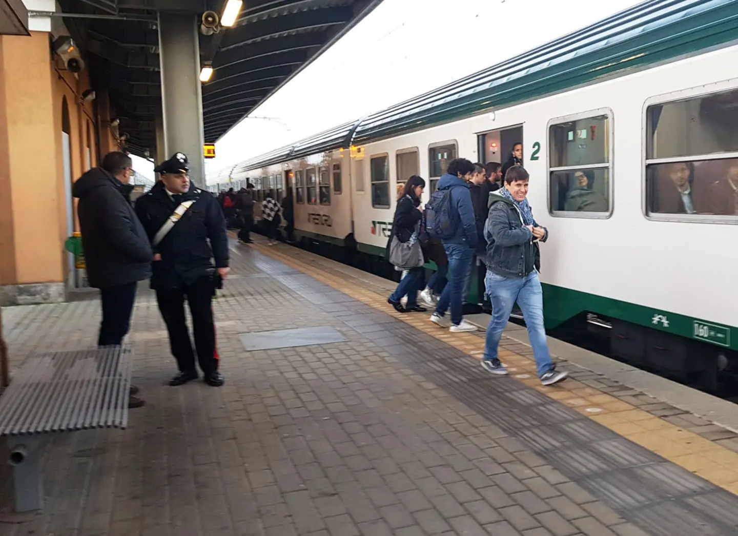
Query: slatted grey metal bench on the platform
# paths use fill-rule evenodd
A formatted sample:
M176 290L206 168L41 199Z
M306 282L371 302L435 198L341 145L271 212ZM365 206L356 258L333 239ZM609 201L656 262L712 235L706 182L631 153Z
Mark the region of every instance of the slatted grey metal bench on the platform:
M13 466L15 511L44 506L41 457L52 434L125 428L131 349L58 351L29 357L0 396L0 436Z

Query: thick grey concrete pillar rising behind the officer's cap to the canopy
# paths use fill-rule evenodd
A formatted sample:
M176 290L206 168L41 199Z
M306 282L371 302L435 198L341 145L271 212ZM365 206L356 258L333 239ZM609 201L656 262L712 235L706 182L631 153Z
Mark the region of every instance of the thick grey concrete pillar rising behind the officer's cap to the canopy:
M190 176L204 186L204 133L200 83L200 41L195 15L159 13L162 114L167 153L187 154Z

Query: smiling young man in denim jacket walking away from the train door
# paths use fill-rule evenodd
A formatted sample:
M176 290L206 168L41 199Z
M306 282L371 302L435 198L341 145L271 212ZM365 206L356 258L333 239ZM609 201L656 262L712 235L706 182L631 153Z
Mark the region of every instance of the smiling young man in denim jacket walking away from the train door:
M514 165L505 175L505 186L489 201L489 218L484 227L487 239L487 293L492 298L492 320L487 326L482 366L503 376L508 370L500 362L497 350L515 302L523 309L525 325L543 385L552 385L568 374L556 371L546 343L543 326L543 291L538 278L539 241L548 239L548 230L540 227L528 205L528 171Z

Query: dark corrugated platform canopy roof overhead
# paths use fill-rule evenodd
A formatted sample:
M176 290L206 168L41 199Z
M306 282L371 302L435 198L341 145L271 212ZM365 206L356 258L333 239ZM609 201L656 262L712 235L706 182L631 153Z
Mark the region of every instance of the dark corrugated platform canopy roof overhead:
M382 0L246 0L235 26L200 35L213 76L202 88L204 140L217 141ZM107 89L128 149L156 147L161 114L158 10L220 16L226 0L59 0L64 23Z

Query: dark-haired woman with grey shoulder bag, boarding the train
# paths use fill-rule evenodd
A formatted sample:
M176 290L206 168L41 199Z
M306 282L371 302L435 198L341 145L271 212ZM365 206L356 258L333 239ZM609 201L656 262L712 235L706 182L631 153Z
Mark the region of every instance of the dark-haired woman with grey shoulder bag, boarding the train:
M390 246L393 238L397 237L402 244L418 240L418 224L423 217L421 195L425 188L425 180L413 175L400 190L398 188L397 207L392 220L392 230L387 240L387 258L390 258ZM395 292L387 298L387 303L397 312L426 312L425 307L418 305L418 290L423 278L423 267L412 268L401 278ZM402 305L402 298L407 296L406 305Z

